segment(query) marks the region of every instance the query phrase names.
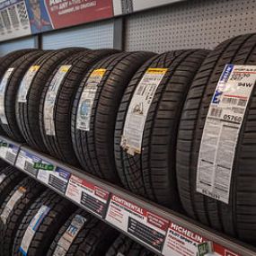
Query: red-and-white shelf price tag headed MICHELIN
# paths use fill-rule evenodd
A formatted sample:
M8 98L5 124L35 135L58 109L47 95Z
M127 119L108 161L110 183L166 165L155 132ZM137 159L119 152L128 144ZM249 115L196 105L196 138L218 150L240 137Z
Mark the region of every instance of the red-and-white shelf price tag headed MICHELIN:
M170 222L163 245L164 256L242 256L223 246L207 241L203 236Z

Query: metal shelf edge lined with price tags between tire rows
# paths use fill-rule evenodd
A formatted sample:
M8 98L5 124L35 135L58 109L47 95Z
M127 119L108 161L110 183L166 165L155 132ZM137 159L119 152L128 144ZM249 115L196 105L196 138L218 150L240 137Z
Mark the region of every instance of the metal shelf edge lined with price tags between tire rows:
M219 253L213 255L256 255L248 244L6 137L0 137L0 158L158 255L205 255L199 250L208 244Z

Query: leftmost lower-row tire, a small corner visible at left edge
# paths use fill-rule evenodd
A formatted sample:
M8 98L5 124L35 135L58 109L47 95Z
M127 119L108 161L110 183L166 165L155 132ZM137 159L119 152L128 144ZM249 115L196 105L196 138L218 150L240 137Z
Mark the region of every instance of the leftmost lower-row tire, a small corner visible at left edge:
M13 166L1 168L0 176L4 175L3 181L0 183L0 207L3 205L4 200L11 193L13 188L25 178L25 174L18 171Z

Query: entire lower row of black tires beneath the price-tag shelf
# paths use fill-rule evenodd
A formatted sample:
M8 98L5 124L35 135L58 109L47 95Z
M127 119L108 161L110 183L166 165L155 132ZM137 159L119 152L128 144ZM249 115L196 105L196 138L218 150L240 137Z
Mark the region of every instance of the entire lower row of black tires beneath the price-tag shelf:
M154 256L12 166L0 169L0 255Z

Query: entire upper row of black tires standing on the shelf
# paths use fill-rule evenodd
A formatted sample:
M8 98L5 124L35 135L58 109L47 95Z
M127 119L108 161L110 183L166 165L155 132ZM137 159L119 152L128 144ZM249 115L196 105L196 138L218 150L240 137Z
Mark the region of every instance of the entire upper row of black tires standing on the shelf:
M14 52L1 60L1 127L16 141L25 140L164 206L179 208L181 201L189 216L252 241L254 87L239 132L227 133L237 138L232 141L234 152L230 151L234 163L228 172L219 171L228 184L222 189L226 201L199 193L198 176L201 142L217 84L226 65L255 65L255 39L249 34L212 51L158 55L108 49ZM207 169L201 175L216 179L214 170L214 177Z

